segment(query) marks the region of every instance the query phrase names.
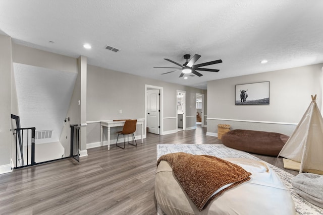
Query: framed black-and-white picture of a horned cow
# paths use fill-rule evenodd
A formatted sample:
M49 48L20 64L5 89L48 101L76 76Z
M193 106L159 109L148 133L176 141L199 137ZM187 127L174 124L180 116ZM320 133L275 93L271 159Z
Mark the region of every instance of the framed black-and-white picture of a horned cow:
M269 82L236 85L236 105L268 105Z

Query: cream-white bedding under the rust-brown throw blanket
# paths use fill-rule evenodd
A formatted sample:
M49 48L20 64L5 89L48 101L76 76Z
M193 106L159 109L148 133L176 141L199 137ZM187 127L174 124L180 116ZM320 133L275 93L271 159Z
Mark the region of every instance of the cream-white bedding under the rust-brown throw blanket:
M245 158L226 158L248 172L250 180L214 199L199 211L187 197L172 173L170 165L160 162L155 178L159 206L170 214L295 214L294 201L279 177L264 162Z

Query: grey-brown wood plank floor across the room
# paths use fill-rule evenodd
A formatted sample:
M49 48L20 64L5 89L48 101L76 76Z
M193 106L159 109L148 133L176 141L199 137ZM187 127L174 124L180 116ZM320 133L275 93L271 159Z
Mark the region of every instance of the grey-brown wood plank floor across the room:
M72 159L0 175L0 214L156 214L156 144L221 144L206 128L147 134L138 147L88 149ZM279 168L282 159L259 156ZM289 171L297 174L296 171Z

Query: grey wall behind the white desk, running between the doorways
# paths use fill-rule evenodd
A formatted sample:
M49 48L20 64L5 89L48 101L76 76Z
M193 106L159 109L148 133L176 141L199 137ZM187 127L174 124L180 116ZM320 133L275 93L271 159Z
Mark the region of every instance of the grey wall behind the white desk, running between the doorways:
M177 90L186 91L187 116L195 113L195 93L203 90L134 76L93 65L87 66L87 143L100 141L99 120L145 118L145 85L164 88L165 132L177 129ZM119 113L122 110L122 114ZM195 120L195 119L194 119ZM195 126L187 120L187 127ZM115 130L112 130L113 133ZM106 130L104 130L106 133ZM137 129L135 135L139 135ZM105 136L104 139L105 140ZM112 139L116 136L112 136ZM113 142L113 141L112 141Z

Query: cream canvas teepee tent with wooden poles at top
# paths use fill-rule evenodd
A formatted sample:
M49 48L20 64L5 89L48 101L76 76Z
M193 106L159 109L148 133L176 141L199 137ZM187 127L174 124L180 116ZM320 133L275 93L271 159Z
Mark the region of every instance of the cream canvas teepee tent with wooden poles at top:
M311 97L312 102L278 155L299 162L300 173L305 169L323 171L323 118L316 95Z

